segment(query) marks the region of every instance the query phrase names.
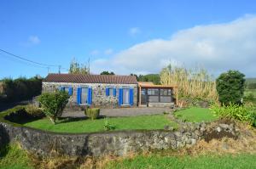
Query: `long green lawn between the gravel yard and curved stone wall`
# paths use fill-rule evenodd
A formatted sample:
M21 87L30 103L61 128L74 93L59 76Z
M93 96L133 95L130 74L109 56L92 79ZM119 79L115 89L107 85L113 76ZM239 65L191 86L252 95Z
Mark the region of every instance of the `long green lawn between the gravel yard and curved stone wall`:
M32 121L24 124L26 127L34 127L52 132L102 132L104 131L105 119L79 120L79 121L59 121L52 124L48 118ZM108 122L115 130L131 129L164 129L166 125L177 127L177 123L168 119L167 115L140 115L133 117L109 118Z

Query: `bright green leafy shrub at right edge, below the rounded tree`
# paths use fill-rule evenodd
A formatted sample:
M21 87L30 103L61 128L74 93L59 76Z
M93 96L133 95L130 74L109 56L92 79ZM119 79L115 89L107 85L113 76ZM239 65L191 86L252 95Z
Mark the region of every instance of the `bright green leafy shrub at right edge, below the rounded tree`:
M252 126L256 126L256 107L253 106L253 104L228 104L223 106L212 104L210 109L214 115L218 115L222 118L247 122Z

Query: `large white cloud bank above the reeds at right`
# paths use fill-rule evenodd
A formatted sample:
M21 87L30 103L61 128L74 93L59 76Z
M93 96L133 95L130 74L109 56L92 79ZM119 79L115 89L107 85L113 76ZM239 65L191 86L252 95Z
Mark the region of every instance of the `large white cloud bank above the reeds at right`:
M255 76L256 15L177 31L167 39L138 43L105 61L117 74L130 74L159 72L170 60L187 66L204 65L214 74L236 69Z

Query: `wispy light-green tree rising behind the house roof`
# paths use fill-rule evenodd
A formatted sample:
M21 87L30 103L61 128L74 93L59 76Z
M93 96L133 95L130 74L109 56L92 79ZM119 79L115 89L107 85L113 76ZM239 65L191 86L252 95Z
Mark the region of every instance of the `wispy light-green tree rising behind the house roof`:
M79 64L79 62L74 58L69 66L70 74L89 74L89 68L84 64Z

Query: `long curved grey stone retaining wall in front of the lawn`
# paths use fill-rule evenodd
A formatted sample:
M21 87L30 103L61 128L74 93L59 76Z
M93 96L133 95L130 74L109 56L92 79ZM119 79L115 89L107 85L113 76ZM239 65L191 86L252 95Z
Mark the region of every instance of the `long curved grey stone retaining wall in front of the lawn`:
M225 131L231 136L234 132L236 135L234 125L223 127L213 126L212 130ZM185 125L178 131L137 130L68 134L43 132L29 127L13 127L0 122L0 138L4 139L5 143L18 141L23 149L42 156L51 154L69 156L127 155L130 152L150 149L190 147L201 140L207 130L209 130L207 124L198 123Z

